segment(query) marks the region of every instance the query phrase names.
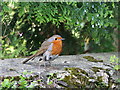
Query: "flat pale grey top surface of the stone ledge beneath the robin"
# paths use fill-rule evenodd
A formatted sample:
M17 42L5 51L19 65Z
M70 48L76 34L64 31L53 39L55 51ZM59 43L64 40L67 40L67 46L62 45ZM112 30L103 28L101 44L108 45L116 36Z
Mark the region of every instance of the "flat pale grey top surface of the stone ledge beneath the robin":
M79 67L88 72L92 67L101 67L112 70L113 65L110 64L109 60L112 55L118 56L118 52L59 56L57 59L51 61L52 66L46 68L43 66L43 61L38 61L39 57L26 64L22 64L22 61L26 58L4 59L0 60L0 76L17 76L25 70L34 73L41 73L44 71L54 72L61 71L65 67ZM91 62L83 58L84 56L92 56L95 59L103 60L103 62Z

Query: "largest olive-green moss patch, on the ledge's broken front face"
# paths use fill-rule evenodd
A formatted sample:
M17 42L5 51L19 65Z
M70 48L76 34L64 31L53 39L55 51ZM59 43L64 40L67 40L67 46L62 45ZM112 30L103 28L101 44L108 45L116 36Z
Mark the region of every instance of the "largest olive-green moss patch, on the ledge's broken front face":
M86 71L80 68L65 68L70 73L69 76L65 76L63 81L73 88L86 87L89 84L89 77Z

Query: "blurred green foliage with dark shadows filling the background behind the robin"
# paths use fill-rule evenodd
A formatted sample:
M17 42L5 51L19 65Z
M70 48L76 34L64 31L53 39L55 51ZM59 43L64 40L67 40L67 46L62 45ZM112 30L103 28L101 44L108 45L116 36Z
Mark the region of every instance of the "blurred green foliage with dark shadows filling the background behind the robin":
M115 2L1 2L0 58L34 54L54 34L62 55L120 51Z

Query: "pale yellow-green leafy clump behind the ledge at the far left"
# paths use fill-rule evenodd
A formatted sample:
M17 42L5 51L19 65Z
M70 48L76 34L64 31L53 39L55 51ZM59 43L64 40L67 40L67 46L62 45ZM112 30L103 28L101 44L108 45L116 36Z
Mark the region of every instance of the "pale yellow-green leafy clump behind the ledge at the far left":
M15 35L11 38L2 40L2 44L4 45L2 45L3 51L1 52L1 57L13 58L27 55L26 40L17 38Z

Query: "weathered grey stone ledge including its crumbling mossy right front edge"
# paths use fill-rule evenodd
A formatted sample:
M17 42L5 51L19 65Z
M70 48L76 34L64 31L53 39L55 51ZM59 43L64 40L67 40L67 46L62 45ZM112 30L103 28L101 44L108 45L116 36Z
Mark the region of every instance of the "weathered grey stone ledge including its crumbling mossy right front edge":
M23 74L24 71L33 72L32 75L47 75L48 73L59 72L58 77L64 78L67 72L64 68L76 67L84 70L85 76L94 77L96 80L98 77L102 76L102 80L107 85L109 75L113 79L118 78L118 74L115 74L113 69L114 65L110 63L110 56L116 55L118 57L118 52L111 53L88 53L81 55L64 55L59 56L57 59L51 61L51 66L44 67L43 61L38 61L36 57L34 60L22 64L26 58L13 58L0 60L0 77L8 76L19 76ZM89 61L85 59L85 56L91 56L98 61ZM83 72L83 71L82 71ZM62 73L62 74L61 74ZM63 74L64 73L64 74ZM94 82L95 79L89 79L89 81Z

